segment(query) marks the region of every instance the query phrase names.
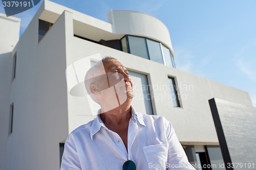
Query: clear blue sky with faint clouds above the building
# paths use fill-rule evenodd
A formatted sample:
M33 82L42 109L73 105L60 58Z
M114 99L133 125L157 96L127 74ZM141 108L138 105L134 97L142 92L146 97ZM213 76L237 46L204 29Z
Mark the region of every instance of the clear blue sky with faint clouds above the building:
M248 91L256 107L255 0L52 1L104 21L110 9L157 17L169 30L178 69ZM15 15L22 18L20 34L41 3Z

